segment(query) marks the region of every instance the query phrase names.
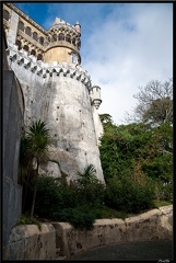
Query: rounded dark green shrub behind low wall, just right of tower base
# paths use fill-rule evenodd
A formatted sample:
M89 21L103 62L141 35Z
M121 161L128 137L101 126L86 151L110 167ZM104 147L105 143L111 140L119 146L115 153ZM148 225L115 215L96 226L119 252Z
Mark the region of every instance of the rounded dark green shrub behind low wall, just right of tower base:
M154 188L151 182L140 184L128 176L113 178L106 188L105 203L127 213L139 213L153 206Z

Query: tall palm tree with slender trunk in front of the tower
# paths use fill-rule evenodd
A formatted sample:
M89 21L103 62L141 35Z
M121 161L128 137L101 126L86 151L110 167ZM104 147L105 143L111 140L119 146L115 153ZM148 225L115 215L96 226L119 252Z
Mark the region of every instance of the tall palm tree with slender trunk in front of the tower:
M46 128L46 123L40 119L33 122L28 128L26 138L28 141L27 145L30 145L30 147L27 147L27 155L30 156L32 162L35 162L36 164L34 194L31 209L31 217L33 217L37 192L38 168L42 162L47 161L48 146L50 145L49 129Z

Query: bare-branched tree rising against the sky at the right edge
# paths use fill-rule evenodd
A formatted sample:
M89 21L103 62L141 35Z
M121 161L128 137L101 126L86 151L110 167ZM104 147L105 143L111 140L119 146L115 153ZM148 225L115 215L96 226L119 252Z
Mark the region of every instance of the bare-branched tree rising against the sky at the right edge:
M173 79L163 83L152 80L139 90L133 95L139 103L132 115L126 113L127 121L144 122L150 126L173 124Z

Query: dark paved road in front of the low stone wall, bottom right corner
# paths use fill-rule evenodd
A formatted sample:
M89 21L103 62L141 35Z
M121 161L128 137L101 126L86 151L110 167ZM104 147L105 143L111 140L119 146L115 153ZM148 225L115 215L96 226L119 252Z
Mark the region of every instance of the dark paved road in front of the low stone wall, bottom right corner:
M156 240L143 242L130 242L121 244L104 245L92 249L87 252L73 255L67 261L140 261L154 260L156 262L168 263L173 259L173 242L171 240Z

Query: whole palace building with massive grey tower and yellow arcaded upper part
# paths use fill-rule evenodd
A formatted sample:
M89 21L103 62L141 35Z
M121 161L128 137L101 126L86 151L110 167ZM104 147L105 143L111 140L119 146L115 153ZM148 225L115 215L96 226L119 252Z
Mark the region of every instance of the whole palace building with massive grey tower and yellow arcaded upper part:
M45 30L13 3L3 3L3 25L9 69L23 94L23 128L42 119L50 129L50 160L40 172L55 178L64 173L70 181L94 164L104 182L98 150L101 88L92 85L81 66L80 23L56 18Z

